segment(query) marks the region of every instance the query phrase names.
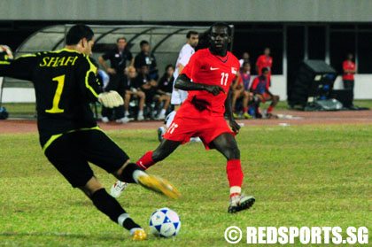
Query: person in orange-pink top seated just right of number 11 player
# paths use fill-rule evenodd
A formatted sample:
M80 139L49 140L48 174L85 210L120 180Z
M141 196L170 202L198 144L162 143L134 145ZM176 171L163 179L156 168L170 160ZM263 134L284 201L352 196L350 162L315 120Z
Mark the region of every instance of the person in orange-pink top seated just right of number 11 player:
M249 91L251 82L251 64L244 62L243 68L240 70L236 83L233 86L234 95L232 97L232 106L234 112L234 118L237 118L235 112L236 100L243 97L243 117L250 119L251 115L248 114L248 102L252 99L253 94Z

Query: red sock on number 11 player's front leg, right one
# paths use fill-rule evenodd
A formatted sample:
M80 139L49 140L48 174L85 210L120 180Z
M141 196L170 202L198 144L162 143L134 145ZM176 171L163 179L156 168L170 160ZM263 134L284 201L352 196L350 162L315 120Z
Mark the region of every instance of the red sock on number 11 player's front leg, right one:
M244 176L242 172L242 166L240 164L240 159L228 160L226 172L228 173L230 197L240 195Z

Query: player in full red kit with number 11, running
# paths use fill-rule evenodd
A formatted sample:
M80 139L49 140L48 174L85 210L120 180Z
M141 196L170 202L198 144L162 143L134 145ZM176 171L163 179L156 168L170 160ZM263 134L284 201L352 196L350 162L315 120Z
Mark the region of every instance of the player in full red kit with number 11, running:
M209 47L192 55L174 84L176 89L189 91L188 98L175 114L159 147L146 152L137 165L147 169L167 158L180 144L189 142L190 137L199 136L205 149L216 149L227 158L229 212L238 212L250 208L255 201L254 197L241 194L244 174L235 139L240 127L233 118L229 90L240 64L228 51L231 27L215 23L209 32ZM224 119L225 110L229 125Z

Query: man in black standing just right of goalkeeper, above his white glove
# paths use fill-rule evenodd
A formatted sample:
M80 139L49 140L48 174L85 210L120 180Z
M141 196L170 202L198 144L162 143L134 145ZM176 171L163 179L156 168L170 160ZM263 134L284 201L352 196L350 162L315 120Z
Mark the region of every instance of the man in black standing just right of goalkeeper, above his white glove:
M109 50L102 57L98 58L101 66L105 68L105 71L110 76L110 81L105 88L106 91L117 91L122 98L125 98L125 90L127 86L127 77L124 70L127 66L127 61L133 66L134 59L132 53L126 49L127 39L124 37L116 40L117 47L113 50ZM105 60L110 60L110 67L106 65ZM116 122L125 123L124 118L124 106L120 105L113 109L113 119ZM112 109L102 107L102 121L108 122L112 119Z

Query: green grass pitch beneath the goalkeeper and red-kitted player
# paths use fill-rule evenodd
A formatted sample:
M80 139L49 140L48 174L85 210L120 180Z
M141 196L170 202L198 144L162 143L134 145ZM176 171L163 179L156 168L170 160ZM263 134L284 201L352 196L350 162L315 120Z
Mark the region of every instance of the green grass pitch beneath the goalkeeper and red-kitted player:
M108 132L133 158L158 145L152 130ZM232 246L235 225L368 227L372 230L372 126L244 127L237 135L244 190L257 198L247 212L227 213L226 161L201 143L181 146L153 166L181 190L170 200L130 185L119 198L146 231L151 212L170 207L182 219L180 235L135 243L98 212L51 166L36 134L0 135L0 246ZM115 181L99 168L106 188ZM245 235L242 239L246 241ZM305 246L248 245L236 246ZM372 234L369 233L371 246ZM334 246L316 244L306 246ZM341 244L338 246L349 246ZM353 245L360 246L360 245Z

